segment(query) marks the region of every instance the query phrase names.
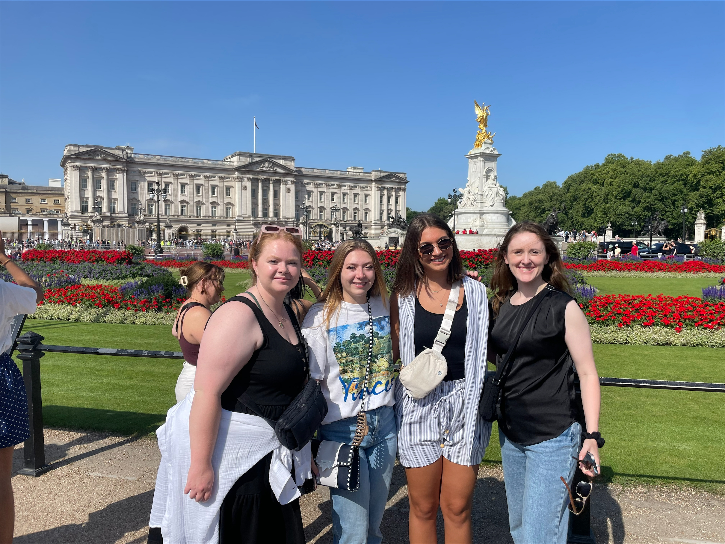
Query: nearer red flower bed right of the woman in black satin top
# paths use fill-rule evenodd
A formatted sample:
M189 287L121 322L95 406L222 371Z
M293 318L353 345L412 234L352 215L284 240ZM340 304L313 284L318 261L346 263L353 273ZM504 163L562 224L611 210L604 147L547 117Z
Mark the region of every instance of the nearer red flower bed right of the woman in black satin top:
M589 323L624 326L665 326L682 329L721 329L725 302L703 302L697 297L664 294L607 294L581 305Z

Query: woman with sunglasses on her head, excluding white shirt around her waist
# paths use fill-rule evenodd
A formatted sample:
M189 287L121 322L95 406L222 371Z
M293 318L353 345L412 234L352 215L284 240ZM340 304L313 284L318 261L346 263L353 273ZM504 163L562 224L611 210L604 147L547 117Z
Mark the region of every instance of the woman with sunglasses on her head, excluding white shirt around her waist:
M302 244L286 231L263 234L249 252L254 287L210 318L194 382L189 416L191 468L185 493L208 500L215 473L212 453L221 410L276 420L307 379L294 312L283 303L299 281ZM304 542L299 499L281 505L270 487L273 451L241 475L220 508L220 543ZM220 474L218 477L223 478Z

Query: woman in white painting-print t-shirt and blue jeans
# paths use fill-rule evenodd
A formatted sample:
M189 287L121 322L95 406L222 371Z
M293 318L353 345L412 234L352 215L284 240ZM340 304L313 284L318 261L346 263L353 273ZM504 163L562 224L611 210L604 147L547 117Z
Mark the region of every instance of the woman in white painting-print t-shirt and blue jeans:
M320 380L328 403L318 437L352 442L362 387L367 387L363 410L368 421L368 434L360 443L360 488L330 489L333 541L377 544L383 540L380 524L397 440L387 290L376 252L365 240L342 242L328 274L325 292L310 308L302 329L310 347L310 375ZM368 383L363 384L370 342L368 296L373 316L373 358Z

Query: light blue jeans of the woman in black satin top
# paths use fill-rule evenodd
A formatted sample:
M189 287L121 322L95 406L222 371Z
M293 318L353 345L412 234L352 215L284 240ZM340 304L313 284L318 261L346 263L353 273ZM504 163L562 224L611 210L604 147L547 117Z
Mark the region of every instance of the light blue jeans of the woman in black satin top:
M569 528L566 486L576 470L581 425L573 423L558 437L523 446L499 430L509 530L518 543L566 544Z

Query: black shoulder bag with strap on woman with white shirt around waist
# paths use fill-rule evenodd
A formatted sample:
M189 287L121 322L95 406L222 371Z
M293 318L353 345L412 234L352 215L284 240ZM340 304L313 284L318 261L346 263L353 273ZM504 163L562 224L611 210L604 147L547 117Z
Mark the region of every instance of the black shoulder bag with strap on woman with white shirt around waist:
M245 300L244 297L239 297L239 299ZM312 437L315 436L315 432L317 432L318 427L322 423L323 419L325 419L325 416L327 415L327 400L325 400L325 397L322 394L322 387L320 387L320 384L318 384L317 380L310 377L310 355L307 350L305 337L302 336L302 331L299 330L297 318L293 317L290 321L292 321L294 331L297 333L299 344L303 348L305 368L307 368L307 383L305 384L305 387L303 387L302 391L297 394L297 397L294 397L292 402L289 403L289 406L287 406L277 421L267 419L265 416L262 416L262 411L260 411L257 403L254 402L252 397L250 397L246 391L241 394L239 400L252 412L257 414L257 416L260 416L260 418L270 424L270 426L274 429L274 432L277 434L277 438L280 443L285 448L299 451L302 450L302 448L305 448L307 442L312 440Z

